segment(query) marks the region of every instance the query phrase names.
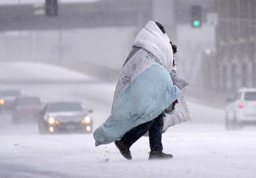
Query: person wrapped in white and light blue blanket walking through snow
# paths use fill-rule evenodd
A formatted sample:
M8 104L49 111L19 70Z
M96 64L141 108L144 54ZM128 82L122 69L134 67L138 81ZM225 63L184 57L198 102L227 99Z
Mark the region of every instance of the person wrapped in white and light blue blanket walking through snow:
M129 148L148 135L149 160L173 157L162 152L162 133L173 123L166 122L164 128L163 118L175 113L181 93L182 109L174 122L191 119L183 98L188 82L176 76L176 51L160 23L149 21L139 32L119 75L112 113L93 133L96 146L114 141L124 158L131 160Z

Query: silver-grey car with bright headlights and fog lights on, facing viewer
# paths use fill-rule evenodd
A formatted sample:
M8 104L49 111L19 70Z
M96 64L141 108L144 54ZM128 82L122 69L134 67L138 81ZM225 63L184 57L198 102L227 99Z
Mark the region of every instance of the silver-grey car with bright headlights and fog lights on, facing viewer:
M47 102L40 110L39 133L91 133L92 112L81 102Z

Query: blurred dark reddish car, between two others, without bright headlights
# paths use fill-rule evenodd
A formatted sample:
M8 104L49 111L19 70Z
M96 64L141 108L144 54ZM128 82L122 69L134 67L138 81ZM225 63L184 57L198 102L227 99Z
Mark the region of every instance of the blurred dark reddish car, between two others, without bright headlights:
M13 123L37 122L40 107L38 96L18 96L13 105Z

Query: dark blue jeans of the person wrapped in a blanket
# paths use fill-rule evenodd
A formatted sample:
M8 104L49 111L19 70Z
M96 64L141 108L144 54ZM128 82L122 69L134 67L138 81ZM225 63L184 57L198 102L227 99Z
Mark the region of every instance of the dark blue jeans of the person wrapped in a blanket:
M127 145L132 146L135 141L141 138L147 131L149 131L149 145L151 151L163 151L162 145L162 128L164 127L163 116L158 117L134 127L126 132L121 138Z

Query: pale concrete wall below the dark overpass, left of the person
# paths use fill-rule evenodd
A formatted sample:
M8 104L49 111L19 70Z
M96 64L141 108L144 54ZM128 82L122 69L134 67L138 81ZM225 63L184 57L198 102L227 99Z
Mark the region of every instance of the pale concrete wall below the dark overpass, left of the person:
M135 39L135 27L0 33L0 61L73 61L121 68Z

